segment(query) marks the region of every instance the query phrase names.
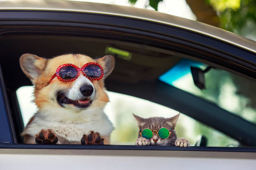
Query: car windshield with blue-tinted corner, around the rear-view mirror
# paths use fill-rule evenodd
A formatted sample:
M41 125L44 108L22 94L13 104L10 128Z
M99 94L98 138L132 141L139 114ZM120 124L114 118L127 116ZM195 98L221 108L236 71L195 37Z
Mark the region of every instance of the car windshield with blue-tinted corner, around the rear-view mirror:
M182 59L159 77L159 80L193 95L215 103L219 107L256 124L256 82L225 70L212 68L204 73L205 88L193 81L191 67L202 71L209 65Z

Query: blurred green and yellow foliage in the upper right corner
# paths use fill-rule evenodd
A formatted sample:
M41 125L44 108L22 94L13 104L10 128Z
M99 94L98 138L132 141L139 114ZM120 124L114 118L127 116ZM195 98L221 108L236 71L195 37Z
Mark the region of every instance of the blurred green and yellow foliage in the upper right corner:
M220 28L256 40L256 0L207 0L220 17Z

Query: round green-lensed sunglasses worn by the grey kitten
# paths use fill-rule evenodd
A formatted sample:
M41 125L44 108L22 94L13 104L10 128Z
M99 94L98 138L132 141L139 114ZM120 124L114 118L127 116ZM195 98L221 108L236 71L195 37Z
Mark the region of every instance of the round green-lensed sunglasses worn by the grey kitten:
M156 130L154 130L154 131L156 131ZM151 129L146 128L146 129L143 129L140 134L143 138L151 139L153 137L154 131L152 131ZM169 135L172 132L170 132L167 128L160 128L158 131L156 131L156 133L159 136L159 138L166 139L166 138L169 137Z

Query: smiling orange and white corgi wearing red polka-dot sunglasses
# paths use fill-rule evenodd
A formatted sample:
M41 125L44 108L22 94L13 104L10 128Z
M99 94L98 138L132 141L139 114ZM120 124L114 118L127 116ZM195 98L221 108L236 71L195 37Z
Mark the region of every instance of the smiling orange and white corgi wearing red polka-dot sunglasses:
M104 80L114 66L112 55L93 60L82 54L52 59L23 54L20 67L35 86L38 107L21 133L24 143L110 144Z

